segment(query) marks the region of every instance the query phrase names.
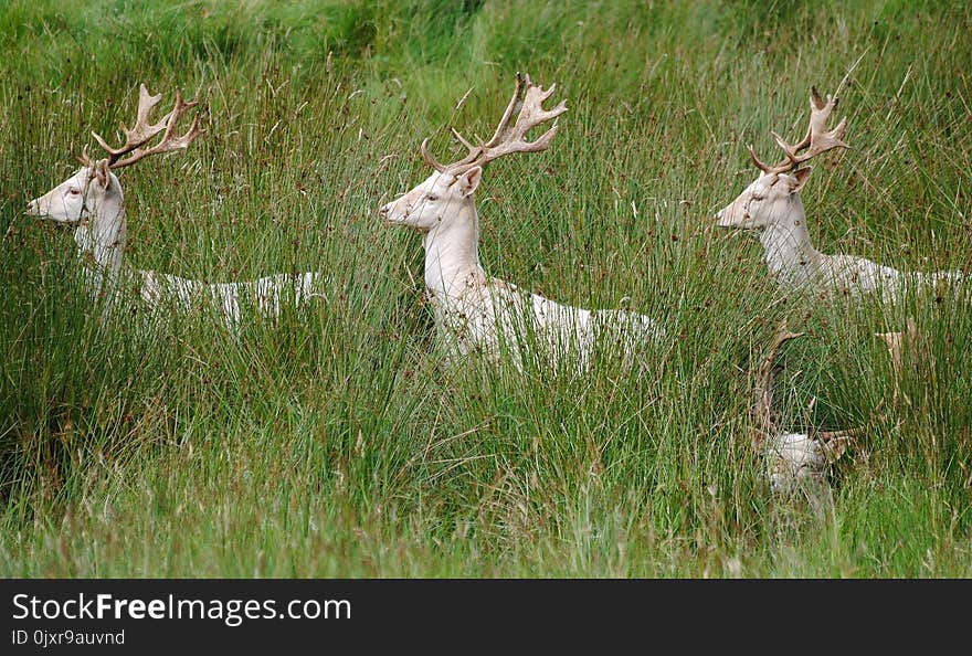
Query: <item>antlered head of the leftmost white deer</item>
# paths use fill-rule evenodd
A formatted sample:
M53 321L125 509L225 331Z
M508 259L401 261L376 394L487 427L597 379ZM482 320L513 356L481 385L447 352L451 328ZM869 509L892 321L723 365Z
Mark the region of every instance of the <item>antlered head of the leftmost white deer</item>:
M74 224L97 221L98 209L106 204L110 203L120 209L122 186L113 171L131 166L149 155L186 149L202 134L197 116L189 131L181 137L175 135L179 118L187 109L197 105L196 102L182 102L178 91L176 105L171 112L159 123L150 124L149 115L161 98L161 94L150 95L142 84L135 127L128 129L122 126L125 144L119 148L112 148L99 135L92 133L98 145L107 152L107 157L94 160L88 157L87 149L81 157L75 156L82 168L44 195L30 201L27 213L57 223ZM147 147L149 141L163 131L161 141Z

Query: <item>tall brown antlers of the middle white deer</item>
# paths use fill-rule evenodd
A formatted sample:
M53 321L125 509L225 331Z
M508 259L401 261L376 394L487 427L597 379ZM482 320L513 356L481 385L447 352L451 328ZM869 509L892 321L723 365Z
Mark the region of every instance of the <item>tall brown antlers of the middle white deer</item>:
M567 112L566 100L561 100L552 109L543 109L543 102L553 95L556 87L556 84L551 84L545 91L542 87L535 85L530 81L529 75L517 73L516 88L514 89L513 97L506 107L506 112L503 114L503 118L496 126L496 131L488 141L485 144L480 141L478 146L473 146L455 128L452 128L452 134L468 150L466 156L452 163L442 165L429 155L429 139L425 139L420 147L423 159L436 171L463 172L513 152L540 152L546 150L554 135L557 135L556 123L542 136L532 141L527 141L526 136L527 133L538 125L556 119ZM514 116L516 116L516 123L510 127Z

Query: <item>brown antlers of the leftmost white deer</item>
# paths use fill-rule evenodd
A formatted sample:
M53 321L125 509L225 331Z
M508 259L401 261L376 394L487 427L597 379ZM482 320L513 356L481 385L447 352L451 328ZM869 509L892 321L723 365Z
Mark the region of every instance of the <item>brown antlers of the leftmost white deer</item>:
M172 107L172 110L169 112L162 120L151 125L149 123L149 116L161 99L161 94L152 96L148 93L148 89L144 84L140 85L138 95L138 116L135 126L131 129L126 128L124 125L122 126L122 131L125 134L125 144L118 148L108 146L101 135L92 131L92 136L98 145L108 152L108 166L110 168L120 169L123 167L131 166L149 155L171 152L173 150L188 148L197 137L205 131L199 129L199 116L196 116L192 119L192 125L190 126L189 131L181 137L175 136L176 126L186 110L191 109L199 104L197 100L191 100L189 103L183 102L182 94L179 91L176 92L176 104ZM151 148L142 148L142 146L157 137L162 130L165 130L165 135L162 136L161 141ZM123 156L125 155L128 155L128 157L123 159ZM91 162L86 149L84 150L82 158L77 159L83 163Z

